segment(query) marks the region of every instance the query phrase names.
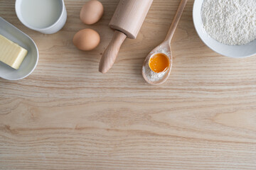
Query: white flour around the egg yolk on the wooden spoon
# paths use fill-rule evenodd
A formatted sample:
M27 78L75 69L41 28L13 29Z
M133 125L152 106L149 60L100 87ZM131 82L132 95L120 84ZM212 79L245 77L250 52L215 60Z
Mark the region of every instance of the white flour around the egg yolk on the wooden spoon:
M161 47L159 47L159 48L161 49ZM154 54L156 54L156 53L163 53L164 55L170 57L171 53L167 52L167 51L168 51L167 49L162 49L162 50L158 50L158 51L154 52ZM154 54L151 52L149 55L152 56ZM159 73L153 72L150 69L149 64L148 64L149 63L149 59L150 59L150 57L147 58L147 60L145 62L146 64L142 67L142 72L145 73L145 75L146 75L147 79L149 79L149 81L153 81L154 82L154 81L161 80L164 77L164 75L167 74L168 69L165 72L159 72Z

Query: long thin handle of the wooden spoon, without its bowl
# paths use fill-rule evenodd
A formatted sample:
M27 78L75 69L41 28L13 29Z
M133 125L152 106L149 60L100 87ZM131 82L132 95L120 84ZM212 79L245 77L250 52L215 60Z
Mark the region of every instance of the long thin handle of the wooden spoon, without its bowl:
M174 16L174 21L171 23L171 27L169 29L168 34L166 35L166 39L164 41L168 41L169 44L171 43L171 38L174 36L174 32L178 26L178 21L181 19L181 15L183 13L183 10L186 6L188 0L181 0L181 3L178 6L178 10L176 11L176 14Z

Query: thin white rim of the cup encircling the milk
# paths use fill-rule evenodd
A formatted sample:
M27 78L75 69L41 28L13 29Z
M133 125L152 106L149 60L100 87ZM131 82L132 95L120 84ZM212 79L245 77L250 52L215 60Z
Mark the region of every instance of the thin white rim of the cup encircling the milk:
M61 16L63 16L63 13L64 13L64 11L65 11L64 0L59 0L59 1L62 2L62 3L61 3L62 8L61 8L60 16L58 16L58 19L55 21L55 23L53 23L52 25L50 25L50 26L48 26L48 27L46 27L46 28L36 28L36 27L30 26L30 25L28 25L26 22L24 22L24 19L23 19L23 17L21 16L21 12L20 12L20 11L21 11L21 5L19 4L19 2L21 2L21 1L23 1L23 0L16 0L16 2L15 2L15 11L16 11L16 15L17 15L19 21L21 21L21 23L23 23L23 25L26 26L27 28L30 28L31 30L37 30L37 31L39 31L39 32L41 32L41 31L43 31L43 30L49 30L50 28L53 28L55 25L57 25L58 22L59 22L60 19L61 19Z

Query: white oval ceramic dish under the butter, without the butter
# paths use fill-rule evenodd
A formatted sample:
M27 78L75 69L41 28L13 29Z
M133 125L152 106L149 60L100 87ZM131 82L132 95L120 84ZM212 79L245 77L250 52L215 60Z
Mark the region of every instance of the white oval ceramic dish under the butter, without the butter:
M8 80L18 80L28 77L38 63L38 48L36 47L35 42L33 42L28 35L21 30L18 30L18 28L1 17L0 34L28 50L28 54L24 58L19 69L13 69L7 64L0 62L0 77Z

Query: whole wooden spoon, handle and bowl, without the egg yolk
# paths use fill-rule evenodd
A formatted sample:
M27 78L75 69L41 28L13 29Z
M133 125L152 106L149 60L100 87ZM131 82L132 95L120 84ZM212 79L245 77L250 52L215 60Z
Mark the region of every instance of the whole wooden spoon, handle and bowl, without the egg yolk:
M165 38L164 42L162 42L159 46L154 48L154 50L152 50L149 53L149 55L146 57L146 59L144 60L144 64L142 66L142 76L144 77L146 82L148 82L149 84L152 84L152 85L163 84L168 79L168 77L171 73L171 66L172 66L171 39L174 36L174 32L175 32L175 30L178 26L178 21L180 21L180 19L181 19L181 15L183 13L183 10L186 6L187 1L188 0L181 0L181 3L178 6L178 10L176 12L176 15L174 16L174 21L173 21L173 23L171 23L171 28L169 29L169 32L166 35L166 38ZM147 76L147 75L150 75L150 74L146 74L146 72L148 72L148 73L153 72L149 68L149 59L157 53L164 53L166 56L169 57L169 67L164 73L159 73L159 74L164 74L161 77L161 79L159 79L157 81L152 81Z

